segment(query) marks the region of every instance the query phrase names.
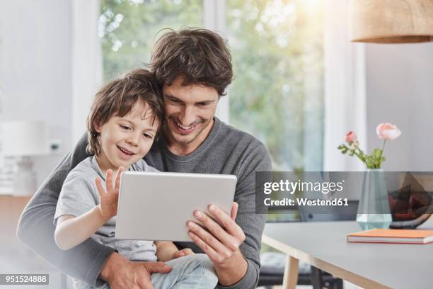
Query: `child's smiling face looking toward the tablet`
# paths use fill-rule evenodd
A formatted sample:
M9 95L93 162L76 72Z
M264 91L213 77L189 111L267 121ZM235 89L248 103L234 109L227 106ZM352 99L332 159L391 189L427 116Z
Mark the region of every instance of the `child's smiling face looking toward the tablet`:
M131 111L122 118L112 115L108 123L97 126L100 133L101 151L98 155L100 169L127 169L149 152L156 132L158 120L154 119L149 104L137 101Z

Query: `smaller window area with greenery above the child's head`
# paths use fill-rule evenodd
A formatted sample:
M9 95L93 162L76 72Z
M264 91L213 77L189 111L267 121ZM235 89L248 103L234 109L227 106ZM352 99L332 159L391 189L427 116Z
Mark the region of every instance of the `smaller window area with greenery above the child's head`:
M182 26L202 26L202 1L101 0L104 79L149 63L156 33Z

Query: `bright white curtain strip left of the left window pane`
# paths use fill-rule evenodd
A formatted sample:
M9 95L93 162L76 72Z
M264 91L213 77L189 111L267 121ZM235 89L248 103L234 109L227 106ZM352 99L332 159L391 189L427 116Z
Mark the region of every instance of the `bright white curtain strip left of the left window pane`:
M72 1L72 145L86 131L91 101L102 83L100 1Z

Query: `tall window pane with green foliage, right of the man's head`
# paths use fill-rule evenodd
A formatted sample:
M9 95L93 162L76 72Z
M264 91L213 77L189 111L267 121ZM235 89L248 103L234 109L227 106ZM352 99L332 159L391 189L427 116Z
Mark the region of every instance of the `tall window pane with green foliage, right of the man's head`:
M323 1L227 0L230 122L265 143L275 171L323 166Z

